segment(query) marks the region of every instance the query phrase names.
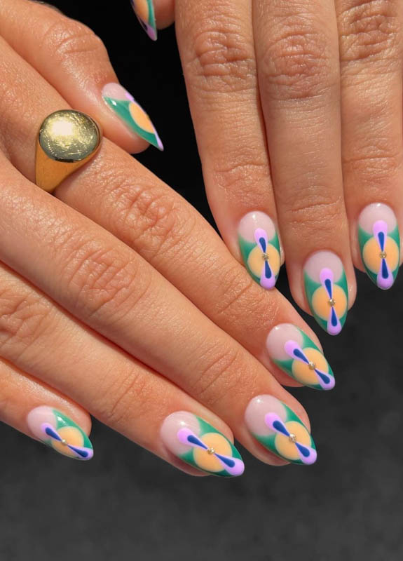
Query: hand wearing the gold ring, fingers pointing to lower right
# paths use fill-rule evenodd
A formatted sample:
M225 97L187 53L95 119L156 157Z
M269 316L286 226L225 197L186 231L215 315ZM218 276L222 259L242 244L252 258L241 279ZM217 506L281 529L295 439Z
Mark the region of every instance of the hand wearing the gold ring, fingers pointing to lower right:
M21 22L40 15L38 38L95 41L45 6L8 4ZM20 34L29 62L0 41L1 419L77 459L92 456L90 412L189 473L240 475L232 433L268 464L313 463L306 413L280 382L327 389L334 378L279 292L261 290L191 205L107 138L55 197L33 184L36 131L69 107L70 86L39 74L46 53L32 41ZM98 55L75 64L102 76L101 95L114 72ZM64 56L55 49L54 64Z

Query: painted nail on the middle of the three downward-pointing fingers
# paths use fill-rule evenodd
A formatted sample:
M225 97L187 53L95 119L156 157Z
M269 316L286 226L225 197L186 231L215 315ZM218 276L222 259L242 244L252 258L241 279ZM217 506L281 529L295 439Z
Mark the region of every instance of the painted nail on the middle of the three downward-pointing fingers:
M303 267L306 299L320 327L341 332L348 310L348 286L340 257L331 251L313 253Z

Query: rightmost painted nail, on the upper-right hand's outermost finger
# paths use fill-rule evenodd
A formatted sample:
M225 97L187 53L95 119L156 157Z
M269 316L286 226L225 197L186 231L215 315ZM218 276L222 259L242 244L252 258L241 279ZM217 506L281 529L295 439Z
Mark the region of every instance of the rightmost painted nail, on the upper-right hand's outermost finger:
M395 282L400 262L399 227L390 206L373 203L362 210L358 243L369 278L382 290L388 290Z

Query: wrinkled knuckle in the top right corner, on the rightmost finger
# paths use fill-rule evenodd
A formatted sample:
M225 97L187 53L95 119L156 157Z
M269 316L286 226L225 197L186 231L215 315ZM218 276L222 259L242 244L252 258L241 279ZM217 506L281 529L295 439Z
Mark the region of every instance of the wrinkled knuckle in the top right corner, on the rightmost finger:
M379 59L390 63L402 53L401 25L394 0L350 4L339 15L341 62Z

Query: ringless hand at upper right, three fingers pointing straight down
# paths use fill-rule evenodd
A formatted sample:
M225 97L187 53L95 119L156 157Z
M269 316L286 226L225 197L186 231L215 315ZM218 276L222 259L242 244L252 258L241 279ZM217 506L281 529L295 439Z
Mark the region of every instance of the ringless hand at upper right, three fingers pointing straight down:
M271 280L280 236L294 299L339 333L353 264L387 289L401 263L402 2L177 0L175 19L228 248L271 288L254 233L271 237Z

